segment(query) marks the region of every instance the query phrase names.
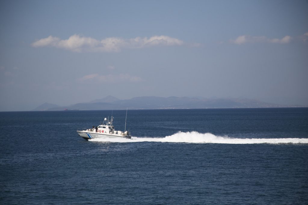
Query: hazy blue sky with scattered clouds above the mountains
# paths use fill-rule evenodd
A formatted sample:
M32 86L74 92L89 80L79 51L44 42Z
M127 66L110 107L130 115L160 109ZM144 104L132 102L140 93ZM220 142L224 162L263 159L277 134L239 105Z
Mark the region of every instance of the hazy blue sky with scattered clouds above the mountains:
M107 95L308 105L307 1L1 1L0 111Z

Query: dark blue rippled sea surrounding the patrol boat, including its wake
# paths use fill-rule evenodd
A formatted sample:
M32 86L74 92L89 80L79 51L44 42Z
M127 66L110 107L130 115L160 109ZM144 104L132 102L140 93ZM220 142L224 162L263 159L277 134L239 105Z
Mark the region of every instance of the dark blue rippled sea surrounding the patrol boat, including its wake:
M126 110L114 110L124 131ZM308 108L0 112L0 204L308 204Z

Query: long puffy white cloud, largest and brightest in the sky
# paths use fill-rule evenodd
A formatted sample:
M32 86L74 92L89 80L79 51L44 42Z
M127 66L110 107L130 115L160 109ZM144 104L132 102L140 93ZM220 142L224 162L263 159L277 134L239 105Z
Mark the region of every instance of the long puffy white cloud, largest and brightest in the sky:
M130 39L109 37L96 40L91 37L72 35L68 39L61 40L58 37L49 36L34 41L33 47L51 46L60 49L67 49L74 52L119 52L123 48L137 49L151 46L175 46L184 45L184 42L169 36L152 36L150 38L136 37Z

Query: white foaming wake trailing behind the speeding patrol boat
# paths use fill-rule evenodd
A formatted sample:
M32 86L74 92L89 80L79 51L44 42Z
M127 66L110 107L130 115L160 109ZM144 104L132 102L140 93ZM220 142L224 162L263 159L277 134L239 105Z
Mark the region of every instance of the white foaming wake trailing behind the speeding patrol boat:
M231 138L228 136L215 136L211 133L177 132L166 137L132 137L126 138L95 138L95 142L177 142L177 143L217 143L217 144L278 144L294 143L308 144L308 138Z

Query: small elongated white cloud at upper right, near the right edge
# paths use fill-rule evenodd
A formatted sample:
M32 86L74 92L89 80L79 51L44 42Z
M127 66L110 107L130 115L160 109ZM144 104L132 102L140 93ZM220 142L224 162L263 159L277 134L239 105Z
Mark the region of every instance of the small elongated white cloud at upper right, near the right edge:
M235 40L230 40L231 43L244 44L244 43L290 43L292 40L291 36L285 36L281 39L279 38L267 38L265 36L248 36L242 35L237 37Z

